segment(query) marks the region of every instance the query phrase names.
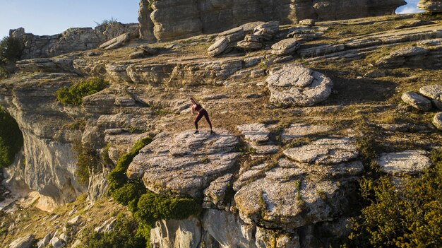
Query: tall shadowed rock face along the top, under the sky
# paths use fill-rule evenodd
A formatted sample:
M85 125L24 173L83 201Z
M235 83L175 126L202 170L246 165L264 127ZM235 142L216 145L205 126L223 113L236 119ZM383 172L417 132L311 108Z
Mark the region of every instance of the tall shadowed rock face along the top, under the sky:
M145 40L177 40L202 33L217 33L253 21L304 19L336 20L391 14L403 0L142 0L139 18ZM146 7L151 6L151 9ZM148 16L148 17L146 17ZM152 24L153 23L153 24Z

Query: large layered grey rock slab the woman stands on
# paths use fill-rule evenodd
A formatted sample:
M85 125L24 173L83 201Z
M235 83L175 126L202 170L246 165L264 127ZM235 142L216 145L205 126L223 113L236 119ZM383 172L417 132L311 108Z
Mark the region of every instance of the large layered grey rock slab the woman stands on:
M217 177L234 167L238 138L224 130L193 134L158 134L141 149L127 175L143 179L145 187L156 193L174 191L193 197L203 196L203 190Z

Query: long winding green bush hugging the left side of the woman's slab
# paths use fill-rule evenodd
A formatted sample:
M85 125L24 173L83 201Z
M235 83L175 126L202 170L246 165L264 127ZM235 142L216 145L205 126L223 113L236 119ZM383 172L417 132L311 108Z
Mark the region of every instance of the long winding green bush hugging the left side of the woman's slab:
M145 240L150 239L150 229L157 220L188 218L201 211L201 202L189 197L180 197L174 194L155 194L145 189L139 180L130 180L126 170L141 148L148 145L152 139L145 138L138 141L129 153L119 158L117 166L109 173L109 193L114 201L128 206L138 220L138 235Z

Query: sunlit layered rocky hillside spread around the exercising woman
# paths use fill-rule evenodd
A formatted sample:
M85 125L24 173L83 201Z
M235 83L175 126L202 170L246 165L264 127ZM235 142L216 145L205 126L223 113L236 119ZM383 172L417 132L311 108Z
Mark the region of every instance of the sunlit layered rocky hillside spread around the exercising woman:
M151 247L339 247L374 164L401 180L442 146L441 38L424 15L258 22L18 61L0 81L24 140L0 246L87 247L131 211ZM215 134L193 134L192 96Z

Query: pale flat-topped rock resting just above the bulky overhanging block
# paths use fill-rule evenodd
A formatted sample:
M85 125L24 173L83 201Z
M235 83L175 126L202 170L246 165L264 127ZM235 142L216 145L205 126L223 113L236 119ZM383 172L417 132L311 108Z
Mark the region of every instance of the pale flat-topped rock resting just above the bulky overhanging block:
M352 138L323 138L305 146L289 148L284 154L299 163L330 165L357 158L359 151Z

